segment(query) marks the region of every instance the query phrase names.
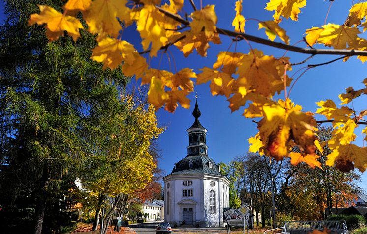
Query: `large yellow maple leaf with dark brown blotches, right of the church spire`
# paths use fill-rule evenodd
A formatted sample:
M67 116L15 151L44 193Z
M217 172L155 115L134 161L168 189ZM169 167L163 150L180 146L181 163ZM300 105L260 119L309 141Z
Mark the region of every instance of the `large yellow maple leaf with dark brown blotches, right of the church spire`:
M290 143L305 154L315 153L316 121L312 113L301 109L289 99L263 106L264 118L258 123L259 134L266 150L276 160L288 155Z

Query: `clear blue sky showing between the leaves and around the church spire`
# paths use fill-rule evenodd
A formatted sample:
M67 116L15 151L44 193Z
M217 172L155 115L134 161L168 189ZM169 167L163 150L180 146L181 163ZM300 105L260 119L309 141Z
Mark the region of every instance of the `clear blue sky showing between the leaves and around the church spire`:
M196 5L200 7L200 1L194 0ZM243 0L243 15L245 19L257 19L260 21L271 20L273 12L264 10L267 0ZM326 23L343 24L348 16L348 9L352 5L352 0L334 1ZM183 11L188 14L192 11L188 0L185 1L186 6ZM218 27L233 29L231 26L232 20L235 16L234 0L203 0L203 6L207 4L215 4L216 14L218 16ZM321 0L308 0L306 8L302 8L302 13L299 14L299 22L283 20L280 26L287 31L290 37L290 44L294 44L305 36L306 29L312 26L324 25L325 16L327 14L330 2ZM3 1L0 3L0 22L3 20ZM257 35L266 38L264 29L257 30L257 21L248 20L245 25L245 32L252 35ZM134 30L134 26L128 27L123 33L123 39L135 45L138 51L141 51L141 46L137 38L139 34ZM366 37L366 36L365 36ZM184 67L195 69L203 68L204 66L211 67L216 61L216 55L219 51L226 51L231 40L227 37L221 36L222 44L211 44L208 50L207 57L201 57L193 52L188 58L183 57L183 53L171 47L169 50L174 56L177 70ZM279 41L276 39L276 41ZM280 57L285 51L271 48L250 42L253 48L262 50L267 55L274 55ZM298 43L297 46L306 47L305 43ZM315 46L318 47L318 46ZM319 47L322 48L322 47ZM229 51L233 51L234 46ZM245 41L237 44L237 52L249 52L249 46ZM160 54L157 58L151 60L151 67L158 68ZM304 60L308 55L297 54L294 52L287 52L287 56L292 63ZM306 64L317 64L332 59L338 56L319 55L315 56ZM172 62L172 58L171 58ZM297 70L305 65L294 66L293 71L288 75L292 76ZM367 64L362 64L355 57L350 58L347 62L337 61L332 64L317 67L307 71L296 83L292 90L290 98L296 103L303 106L304 110L315 112L317 105L315 102L320 100L332 99L337 104L340 103L338 95L345 91L345 88L353 86L362 88L362 80L366 78ZM172 64L171 64L171 67ZM160 69L170 70L170 64L167 56L163 54ZM175 72L175 70L172 70ZM138 85L133 82L131 85ZM199 108L202 116L200 122L207 128L207 145L209 147L208 154L215 162L228 163L233 157L243 155L248 151L248 138L254 136L257 132L256 124L252 119L246 119L242 116L243 108L231 113L228 108L229 103L223 96L213 97L209 90L209 84L199 85L195 87L198 95ZM279 98L283 98L282 93ZM189 98L192 100L191 104L195 104L195 94L191 94ZM354 102L354 107L357 112L366 109L365 97L360 97ZM348 105L350 108L351 105ZM160 167L170 173L174 163L181 160L187 155L186 146L188 145L188 137L186 129L191 126L194 121L192 117L193 106L190 109L179 107L175 113L171 114L164 109L157 111L157 117L161 126L166 126L167 130L159 137L159 147L161 148L162 158L160 160ZM325 119L322 116L316 116L317 120ZM363 144L363 136L360 134L361 128L355 133L357 134L356 143L360 146ZM367 173L364 173L359 185L367 190Z

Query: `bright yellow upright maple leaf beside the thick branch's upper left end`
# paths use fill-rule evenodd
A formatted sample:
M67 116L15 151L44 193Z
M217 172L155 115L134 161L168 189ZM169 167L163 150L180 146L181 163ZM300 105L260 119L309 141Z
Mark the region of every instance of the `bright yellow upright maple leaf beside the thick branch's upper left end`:
M140 10L137 30L142 38L143 49L147 50L151 45L151 56L157 56L158 50L168 42L164 21L163 13L154 5L144 5Z

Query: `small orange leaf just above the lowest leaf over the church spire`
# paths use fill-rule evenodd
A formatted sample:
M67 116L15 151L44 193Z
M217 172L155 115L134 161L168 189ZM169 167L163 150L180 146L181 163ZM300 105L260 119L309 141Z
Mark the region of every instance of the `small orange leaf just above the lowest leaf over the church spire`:
M190 78L196 78L196 73L190 68L183 68L171 77L166 77L165 85L171 89L180 87L189 92L194 91L194 82Z

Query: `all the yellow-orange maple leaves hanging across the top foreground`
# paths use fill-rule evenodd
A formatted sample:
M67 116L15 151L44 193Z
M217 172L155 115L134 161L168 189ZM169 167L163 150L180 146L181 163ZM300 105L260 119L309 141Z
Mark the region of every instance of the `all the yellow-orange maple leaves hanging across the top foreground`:
M302 111L301 106L293 104L287 95L285 100L275 101L273 98L282 91L286 93L292 81L287 76L291 70L289 58L275 58L251 48L247 54L219 52L213 66L199 69L198 74L191 68L177 71L175 68L175 72L151 68L132 44L122 40L125 27L136 26L142 47L150 57L156 57L158 51L167 50L172 45L185 57L194 50L206 56L209 43L221 43L214 5L201 9L193 5L194 11L184 19L179 15L183 0L160 3L160 0L68 0L63 13L48 6L39 6L40 14L31 15L29 24L45 24L50 40L56 40L64 31L76 40L83 26L75 16L76 12L81 12L88 25L87 30L97 35L98 46L93 49L91 58L102 62L104 68L115 69L122 65L125 76L141 78L142 84L150 86L148 100L156 109L165 106L167 111L173 112L178 104L189 108L187 95L194 89L192 79L196 78L196 84L210 82L212 94L226 96L232 111L247 104L245 117L262 118L258 123L259 133L250 139L250 151L260 151L276 160L289 156L294 165L306 162L311 167L320 166L316 150L322 152L323 146L317 140L317 124L313 114ZM259 21L258 29L265 29L271 41L278 37L289 44L286 31L278 23L283 18L298 20L303 7L306 7L306 0L270 0L265 9L274 11L274 20ZM366 40L358 38L358 34L360 29L365 31L367 27L367 23L362 22L367 15L367 3L355 4L349 13L344 25L327 24L306 30L308 46L318 43L335 49L366 50ZM244 33L246 20L242 15L242 0L236 2L233 15L234 30ZM241 36L233 38L234 41L242 39ZM362 61L367 59L366 56L359 58ZM340 96L342 104L367 94L366 89L355 91L348 88L347 93ZM339 109L330 100L321 101L318 105L320 109L316 113L334 120L334 136L328 142L334 151L329 156L328 165L336 164L344 171L356 166L364 171L367 160L361 155L366 155L367 150L351 142L355 138L354 129L358 121L367 111L361 112L358 119L352 117L348 108ZM366 133L367 129L363 132ZM293 147L298 147L300 153L289 154Z

